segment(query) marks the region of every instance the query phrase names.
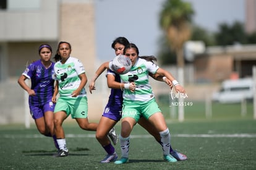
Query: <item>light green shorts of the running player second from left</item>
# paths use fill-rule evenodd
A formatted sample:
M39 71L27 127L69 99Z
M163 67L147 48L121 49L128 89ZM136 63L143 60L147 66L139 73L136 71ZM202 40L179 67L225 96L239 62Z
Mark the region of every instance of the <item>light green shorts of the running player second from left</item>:
M70 98L60 97L54 108L54 113L58 111L65 111L67 116L71 114L72 119L74 118L86 118L88 114L88 103L87 97Z

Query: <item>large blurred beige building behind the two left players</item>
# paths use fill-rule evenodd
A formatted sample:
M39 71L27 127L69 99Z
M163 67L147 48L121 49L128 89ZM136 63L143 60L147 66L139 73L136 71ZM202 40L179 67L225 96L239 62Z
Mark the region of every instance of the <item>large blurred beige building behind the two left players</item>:
M28 101L17 79L28 64L40 59L41 44L51 45L54 56L58 42L68 41L71 56L85 66L88 82L94 75L98 62L93 0L1 0L0 23L0 124L24 121ZM101 92L88 94L92 119L102 113Z

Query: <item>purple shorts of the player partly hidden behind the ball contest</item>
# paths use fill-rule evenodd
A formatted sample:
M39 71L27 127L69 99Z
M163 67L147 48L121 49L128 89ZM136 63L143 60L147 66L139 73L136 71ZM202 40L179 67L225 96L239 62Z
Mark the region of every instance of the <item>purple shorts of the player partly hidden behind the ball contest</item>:
M122 106L106 106L102 114L103 117L108 117L114 121L119 121L122 117Z

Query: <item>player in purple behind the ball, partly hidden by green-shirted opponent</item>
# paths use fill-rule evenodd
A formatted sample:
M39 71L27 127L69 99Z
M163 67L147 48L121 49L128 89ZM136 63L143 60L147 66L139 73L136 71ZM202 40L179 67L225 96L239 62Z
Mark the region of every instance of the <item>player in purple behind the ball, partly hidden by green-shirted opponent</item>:
M123 54L123 50L126 45L129 45L129 41L125 37L118 37L113 41L111 47L114 49L116 56L118 56L119 54ZM105 69L108 68L109 62L105 62L98 68L98 70L96 70L95 77L90 82L90 93L92 93L92 90L95 90L95 80L100 74L102 74ZM155 76L154 79L163 81L163 76L158 76L157 74L152 76ZM111 88L111 93L109 95L108 104L106 105L106 108L100 119L98 129L96 130L96 138L107 153L106 157L101 161L101 163L109 163L117 159L116 151L108 138L108 131L109 129L113 128L114 125L116 125L116 123L121 119L122 110L122 90L120 89L121 80L119 75L112 70L108 70L107 81L108 87ZM164 79L164 81L169 86L172 85L168 79ZM161 144L158 131L150 124L150 122L147 121L147 119L141 117L138 123L151 135L153 135L153 137L155 137L155 139ZM178 160L187 159L186 155L174 151L171 147L170 153Z

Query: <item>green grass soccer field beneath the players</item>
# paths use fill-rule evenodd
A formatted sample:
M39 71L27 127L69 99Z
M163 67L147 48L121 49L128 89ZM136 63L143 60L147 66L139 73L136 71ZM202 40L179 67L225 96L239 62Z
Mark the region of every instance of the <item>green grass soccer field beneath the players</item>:
M0 169L256 169L256 121L247 105L241 116L239 104L214 104L206 119L202 103L195 103L186 108L184 122L170 119L168 106L162 106L173 148L188 157L177 163L164 162L160 145L139 125L132 131L129 163L121 165L99 163L105 151L95 132L81 130L75 122L64 122L70 151L64 158L53 158L53 140L40 135L35 125L1 125ZM120 156L119 143L116 150Z

